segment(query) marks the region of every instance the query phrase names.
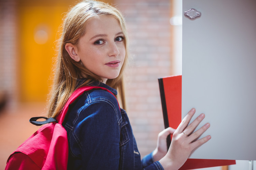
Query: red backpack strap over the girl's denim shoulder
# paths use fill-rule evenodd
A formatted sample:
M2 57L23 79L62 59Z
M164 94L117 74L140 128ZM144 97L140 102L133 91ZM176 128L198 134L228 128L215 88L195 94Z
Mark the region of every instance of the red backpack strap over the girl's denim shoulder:
M106 90L108 92L110 92L113 96L115 96L111 91L109 91L108 89L104 88L104 87L94 87L94 86L83 86L83 87L80 87L78 89L76 89L72 95L70 96L70 98L68 99L67 103L65 104L65 106L63 107L62 109L62 112L60 113L60 115L57 117L57 121L59 122L59 124L62 124L64 119L65 119L65 116L68 112L68 108L69 108L69 105L71 103L73 103L79 96L81 96L85 91L89 91L91 89L103 89L103 90ZM118 103L118 107L120 108L119 106L119 103Z

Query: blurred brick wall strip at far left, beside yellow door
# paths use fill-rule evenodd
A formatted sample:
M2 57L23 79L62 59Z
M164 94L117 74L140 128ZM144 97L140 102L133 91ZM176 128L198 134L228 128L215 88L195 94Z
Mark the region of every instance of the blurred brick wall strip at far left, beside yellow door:
M0 95L6 95L10 108L17 102L15 6L15 0L0 0Z

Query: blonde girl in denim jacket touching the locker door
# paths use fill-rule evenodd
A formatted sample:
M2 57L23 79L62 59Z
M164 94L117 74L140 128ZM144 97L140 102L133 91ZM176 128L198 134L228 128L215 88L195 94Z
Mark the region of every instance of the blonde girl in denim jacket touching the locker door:
M114 95L118 90L125 108L127 47L124 18L116 8L92 0L71 8L63 24L48 117L57 117L72 92L81 86L104 87ZM157 148L141 161L129 119L116 98L101 89L87 91L69 107L62 124L69 139L68 169L177 170L193 149L211 138L194 141L210 126L207 123L192 133L204 118L201 114L188 125L194 114L193 108L177 130L162 131ZM169 134L173 138L167 151Z

